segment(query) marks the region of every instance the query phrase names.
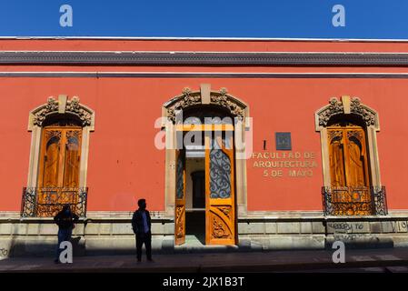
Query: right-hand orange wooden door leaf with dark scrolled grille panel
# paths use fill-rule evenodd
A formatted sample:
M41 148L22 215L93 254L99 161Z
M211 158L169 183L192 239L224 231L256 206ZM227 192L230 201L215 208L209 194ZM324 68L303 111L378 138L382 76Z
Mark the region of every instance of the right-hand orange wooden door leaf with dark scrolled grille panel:
M234 132L205 136L205 244L235 244Z

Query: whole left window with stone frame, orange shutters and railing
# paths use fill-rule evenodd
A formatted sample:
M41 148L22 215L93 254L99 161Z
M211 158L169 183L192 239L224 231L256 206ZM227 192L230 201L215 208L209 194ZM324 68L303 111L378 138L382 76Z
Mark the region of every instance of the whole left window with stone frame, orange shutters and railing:
M54 216L69 204L78 216L86 212L86 166L94 112L77 97L50 97L30 114L30 166L23 192L22 216Z

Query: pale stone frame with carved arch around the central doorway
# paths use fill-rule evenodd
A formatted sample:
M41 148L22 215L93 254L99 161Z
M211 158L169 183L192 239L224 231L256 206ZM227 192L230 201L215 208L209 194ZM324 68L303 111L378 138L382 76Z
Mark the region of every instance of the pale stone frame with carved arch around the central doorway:
M176 126L175 115L178 110L184 110L196 105L215 105L226 109L231 115L237 117L241 123L235 125L234 135L241 135L245 144L245 131L250 129L249 107L242 100L228 94L225 88L219 91L212 91L210 84L201 84L200 90L192 91L185 87L181 95L176 95L164 103L162 107L161 128L165 131L165 214L174 217L175 201L175 141ZM236 139L235 139L236 142ZM246 160L237 159L240 154L243 156L244 148L235 146L235 200L237 206L237 215L247 215L247 187L246 187Z

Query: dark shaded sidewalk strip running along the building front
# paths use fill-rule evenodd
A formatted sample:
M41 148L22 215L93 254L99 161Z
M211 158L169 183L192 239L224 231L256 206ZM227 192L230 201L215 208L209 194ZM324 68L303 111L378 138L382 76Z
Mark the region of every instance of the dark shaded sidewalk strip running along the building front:
M0 272L295 272L379 266L408 272L408 248L346 250L344 264L333 264L332 255L327 250L177 254L155 255L153 263L137 263L134 256L78 256L73 264L58 265L52 257L15 257L0 260Z

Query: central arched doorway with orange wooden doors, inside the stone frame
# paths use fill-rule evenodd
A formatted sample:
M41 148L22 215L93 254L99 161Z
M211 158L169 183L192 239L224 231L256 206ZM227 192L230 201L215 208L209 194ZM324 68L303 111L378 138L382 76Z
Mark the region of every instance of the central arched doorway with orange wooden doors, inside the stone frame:
M234 245L233 117L211 105L185 110L175 135L175 245Z

